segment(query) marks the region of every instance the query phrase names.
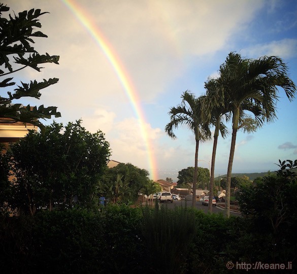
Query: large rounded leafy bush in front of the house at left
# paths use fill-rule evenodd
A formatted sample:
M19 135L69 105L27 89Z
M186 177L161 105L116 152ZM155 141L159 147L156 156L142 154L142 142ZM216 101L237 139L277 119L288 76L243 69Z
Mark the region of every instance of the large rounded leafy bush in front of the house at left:
M30 131L2 156L9 159L13 174L6 202L10 209L31 215L74 204L91 207L97 203L96 188L109 155L104 133L86 131L81 121Z

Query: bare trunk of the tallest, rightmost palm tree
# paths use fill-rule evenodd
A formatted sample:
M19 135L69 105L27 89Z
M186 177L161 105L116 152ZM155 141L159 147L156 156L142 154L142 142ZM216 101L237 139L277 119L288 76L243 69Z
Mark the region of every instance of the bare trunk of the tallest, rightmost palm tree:
M236 134L237 134L238 123L239 123L239 113L240 113L239 108L237 108L233 113L232 141L231 141L228 170L227 170L225 211L226 211L226 216L228 218L230 217L231 176L232 176L232 166L233 166L235 144L236 144Z

